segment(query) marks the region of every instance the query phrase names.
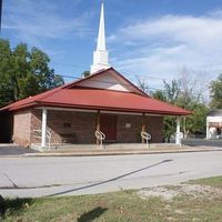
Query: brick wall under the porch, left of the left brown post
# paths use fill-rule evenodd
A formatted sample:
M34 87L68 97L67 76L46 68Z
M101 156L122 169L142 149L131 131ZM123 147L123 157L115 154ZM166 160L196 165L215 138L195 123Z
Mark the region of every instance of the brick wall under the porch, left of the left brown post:
M41 130L41 110L32 110L31 131ZM52 143L61 143L62 138L67 142L94 143L95 113L70 112L49 110L47 115L47 127L52 134ZM72 137L67 138L65 137ZM75 139L75 140L74 140ZM31 135L32 143L40 142Z

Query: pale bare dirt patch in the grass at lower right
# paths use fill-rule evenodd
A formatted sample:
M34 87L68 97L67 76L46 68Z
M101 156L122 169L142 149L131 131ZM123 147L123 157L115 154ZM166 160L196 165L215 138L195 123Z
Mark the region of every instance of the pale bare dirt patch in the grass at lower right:
M142 189L138 192L141 199L161 198L167 201L171 201L176 195L189 195L191 198L208 198L212 199L222 195L222 189L206 186L206 185L192 185L180 184L174 186L158 186Z

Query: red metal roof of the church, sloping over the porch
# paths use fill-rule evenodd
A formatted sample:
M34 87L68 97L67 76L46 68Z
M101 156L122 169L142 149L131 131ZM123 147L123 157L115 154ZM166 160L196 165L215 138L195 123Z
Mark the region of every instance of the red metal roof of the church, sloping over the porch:
M74 83L68 85L73 84ZM31 107L60 107L122 112L145 112L165 115L186 115L191 113L188 110L152 99L148 95L103 89L69 88L68 85L59 87L48 92L20 100L0 109L0 111L16 111Z

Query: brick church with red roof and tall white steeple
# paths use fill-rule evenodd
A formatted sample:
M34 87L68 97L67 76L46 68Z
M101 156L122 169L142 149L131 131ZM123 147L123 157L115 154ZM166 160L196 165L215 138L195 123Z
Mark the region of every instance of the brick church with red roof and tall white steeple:
M180 117L190 111L158 101L138 89L109 64L105 49L103 4L97 50L91 74L48 92L23 99L0 109L8 125L4 140L22 145L52 143L151 142L163 141L163 117L176 118L176 143L180 144ZM0 120L1 121L1 120ZM3 135L4 127L1 127ZM99 133L95 137L95 132Z

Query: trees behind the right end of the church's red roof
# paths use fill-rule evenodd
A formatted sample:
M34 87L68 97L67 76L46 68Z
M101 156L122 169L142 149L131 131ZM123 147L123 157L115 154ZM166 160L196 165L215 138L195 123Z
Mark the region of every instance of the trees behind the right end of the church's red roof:
M141 81L138 82L141 85ZM148 84L143 85L143 88L148 89ZM141 87L141 89L143 88ZM192 79L189 71L183 69L179 79L170 82L163 81L163 89L150 91L150 94L154 99L193 112L191 115L182 119L181 131L183 131L184 135L188 135L189 133L205 133L205 121L209 109L202 98L203 91L203 82ZM175 118L164 117L163 133L167 141L175 133Z

